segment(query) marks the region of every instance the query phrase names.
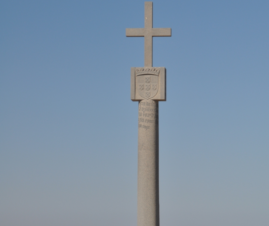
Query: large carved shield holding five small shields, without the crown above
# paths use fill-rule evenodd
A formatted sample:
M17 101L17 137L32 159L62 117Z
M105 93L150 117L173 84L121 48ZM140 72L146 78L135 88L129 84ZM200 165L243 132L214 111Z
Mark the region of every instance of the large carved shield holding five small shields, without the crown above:
M145 99L154 97L158 92L158 75L137 75L138 93Z

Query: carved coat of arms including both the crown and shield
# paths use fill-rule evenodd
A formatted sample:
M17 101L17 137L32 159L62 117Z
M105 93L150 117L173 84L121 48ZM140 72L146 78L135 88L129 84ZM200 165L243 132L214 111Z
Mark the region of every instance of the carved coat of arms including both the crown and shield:
M159 68L136 68L138 93L142 98L150 99L158 92Z

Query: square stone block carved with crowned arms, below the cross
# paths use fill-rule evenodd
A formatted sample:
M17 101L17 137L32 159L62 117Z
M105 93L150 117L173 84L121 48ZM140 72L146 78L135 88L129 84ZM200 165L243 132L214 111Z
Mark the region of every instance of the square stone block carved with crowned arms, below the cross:
M166 101L165 67L131 67L131 100Z

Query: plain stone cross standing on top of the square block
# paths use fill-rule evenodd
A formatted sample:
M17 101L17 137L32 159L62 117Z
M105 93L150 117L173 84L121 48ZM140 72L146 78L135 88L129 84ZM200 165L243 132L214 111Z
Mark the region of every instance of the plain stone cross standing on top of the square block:
M152 37L171 36L171 28L152 28L152 1L145 1L145 28L126 28L126 37L144 37L144 66L152 67Z

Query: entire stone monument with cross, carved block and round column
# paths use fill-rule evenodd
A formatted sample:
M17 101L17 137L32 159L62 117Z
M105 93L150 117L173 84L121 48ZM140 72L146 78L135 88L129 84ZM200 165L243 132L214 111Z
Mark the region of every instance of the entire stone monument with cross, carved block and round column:
M127 37L144 37L144 67L131 68L131 100L138 104L137 226L159 226L159 109L166 101L166 69L152 67L152 37L171 28L152 28L152 2L145 2L145 27L126 28Z

